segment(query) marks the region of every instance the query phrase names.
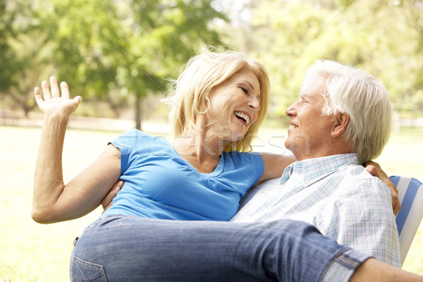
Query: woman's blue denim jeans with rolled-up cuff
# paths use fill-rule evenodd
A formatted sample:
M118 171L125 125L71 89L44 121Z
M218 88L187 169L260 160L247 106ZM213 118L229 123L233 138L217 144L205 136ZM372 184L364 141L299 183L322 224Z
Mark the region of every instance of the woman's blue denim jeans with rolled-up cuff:
M71 256L71 281L348 281L368 256L301 221L104 216Z

